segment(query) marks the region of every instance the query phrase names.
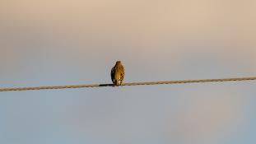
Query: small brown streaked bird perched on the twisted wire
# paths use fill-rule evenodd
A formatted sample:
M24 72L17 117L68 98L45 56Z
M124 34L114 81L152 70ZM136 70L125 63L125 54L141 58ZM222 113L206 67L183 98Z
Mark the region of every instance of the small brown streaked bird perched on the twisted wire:
M111 80L113 81L113 86L122 85L124 78L124 67L121 61L117 61L114 67L111 69Z

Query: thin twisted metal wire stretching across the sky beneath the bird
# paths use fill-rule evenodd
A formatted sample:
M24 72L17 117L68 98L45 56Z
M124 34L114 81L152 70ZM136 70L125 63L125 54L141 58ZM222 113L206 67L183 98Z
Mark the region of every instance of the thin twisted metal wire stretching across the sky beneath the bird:
M224 82L224 81L253 81L253 80L256 80L256 77L201 79L201 80L184 80L184 81L131 82L131 83L123 83L122 86L186 84L186 83ZM113 86L113 84L95 84L95 85L77 85L77 86L13 87L13 88L0 88L0 91L31 91L31 90L48 90L48 89L72 89L72 88L89 88L89 87L101 87L101 86Z

